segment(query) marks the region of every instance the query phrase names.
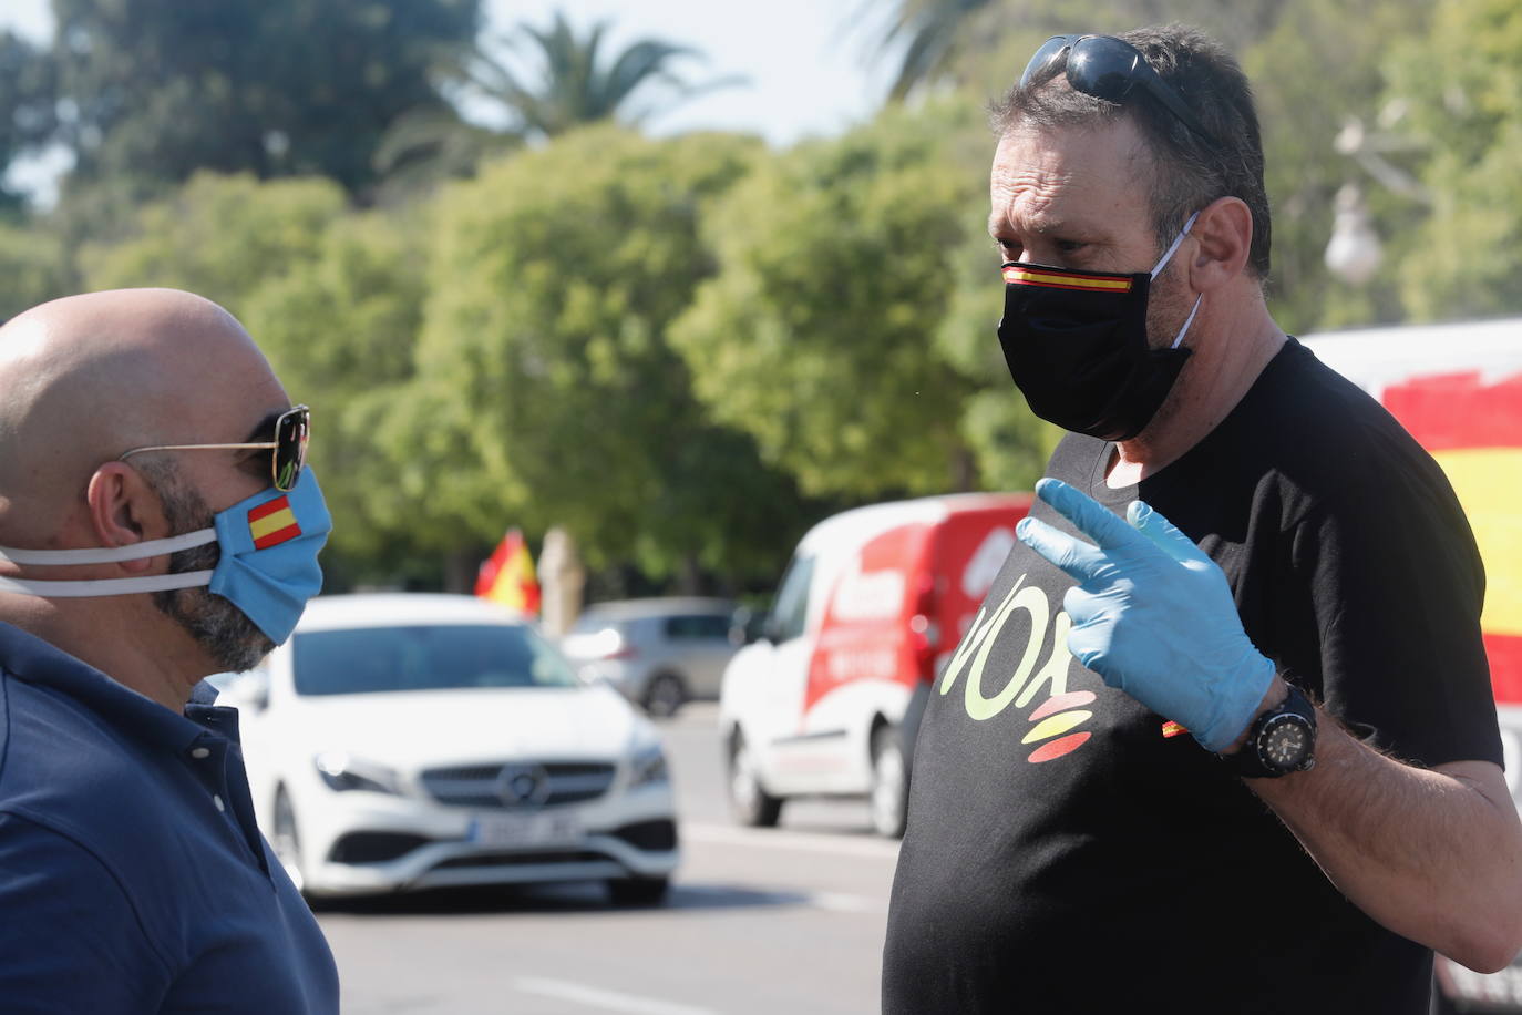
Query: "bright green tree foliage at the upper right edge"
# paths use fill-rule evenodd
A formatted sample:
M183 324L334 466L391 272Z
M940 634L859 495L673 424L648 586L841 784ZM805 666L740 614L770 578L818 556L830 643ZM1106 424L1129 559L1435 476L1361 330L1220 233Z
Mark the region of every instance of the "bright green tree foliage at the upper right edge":
M1402 38L1385 67L1432 195L1420 225L1387 245L1405 306L1422 320L1522 310L1522 6L1438 5L1431 33Z

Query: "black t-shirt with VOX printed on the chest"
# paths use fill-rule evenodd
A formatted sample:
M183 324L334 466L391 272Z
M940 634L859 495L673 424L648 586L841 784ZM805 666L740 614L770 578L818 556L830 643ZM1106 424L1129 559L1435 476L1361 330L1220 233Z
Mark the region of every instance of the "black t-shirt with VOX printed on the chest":
M1105 485L1111 453L1070 435L1049 475L1117 513L1142 498L1195 539L1253 642L1355 733L1423 765L1501 762L1473 537L1373 399L1291 339L1140 488ZM884 1012L1426 1012L1431 951L1345 901L1187 732L1071 659L1070 586L1017 545L930 692Z

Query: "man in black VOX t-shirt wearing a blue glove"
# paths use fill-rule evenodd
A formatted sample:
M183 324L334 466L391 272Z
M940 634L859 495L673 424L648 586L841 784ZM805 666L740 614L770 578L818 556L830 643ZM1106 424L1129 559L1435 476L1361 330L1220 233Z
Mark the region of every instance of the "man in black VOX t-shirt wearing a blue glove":
M995 123L998 339L1068 434L928 695L883 1007L1426 1012L1432 950L1522 945L1460 505L1269 317L1228 53L1056 37Z

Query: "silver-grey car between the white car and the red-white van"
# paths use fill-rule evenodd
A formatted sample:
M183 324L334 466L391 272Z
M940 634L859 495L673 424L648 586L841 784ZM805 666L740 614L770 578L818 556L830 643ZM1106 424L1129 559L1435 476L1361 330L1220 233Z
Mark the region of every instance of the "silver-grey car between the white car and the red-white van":
M650 715L673 715L683 702L717 698L737 604L709 598L597 603L562 639L584 677L603 677Z

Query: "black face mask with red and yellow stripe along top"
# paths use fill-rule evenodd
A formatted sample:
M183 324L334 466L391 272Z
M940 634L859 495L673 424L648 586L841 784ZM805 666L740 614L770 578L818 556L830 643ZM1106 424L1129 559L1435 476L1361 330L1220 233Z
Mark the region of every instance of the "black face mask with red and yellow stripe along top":
M1170 348L1146 341L1146 301L1157 268L1134 275L1008 263L998 344L1030 411L1076 434L1131 440L1157 415L1189 350L1180 347L1199 300Z

